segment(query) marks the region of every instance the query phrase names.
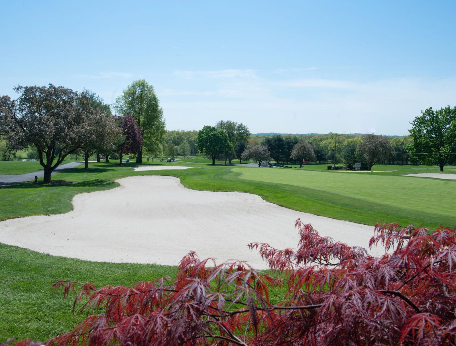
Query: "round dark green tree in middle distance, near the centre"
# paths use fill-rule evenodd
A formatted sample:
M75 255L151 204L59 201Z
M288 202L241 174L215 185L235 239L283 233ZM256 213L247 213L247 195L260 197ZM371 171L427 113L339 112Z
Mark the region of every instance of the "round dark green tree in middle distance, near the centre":
M198 150L207 156L211 156L212 165L218 155L224 154L233 148L228 135L214 126L206 125L197 136Z

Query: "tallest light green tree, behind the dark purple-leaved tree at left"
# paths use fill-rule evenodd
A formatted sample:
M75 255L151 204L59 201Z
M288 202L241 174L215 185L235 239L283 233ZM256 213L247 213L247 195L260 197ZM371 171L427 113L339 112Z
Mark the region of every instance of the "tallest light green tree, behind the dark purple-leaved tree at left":
M143 131L143 144L138 150L136 163L142 163L143 154L161 154L166 134L165 120L152 85L144 79L134 81L116 99L114 109L118 114L131 114Z

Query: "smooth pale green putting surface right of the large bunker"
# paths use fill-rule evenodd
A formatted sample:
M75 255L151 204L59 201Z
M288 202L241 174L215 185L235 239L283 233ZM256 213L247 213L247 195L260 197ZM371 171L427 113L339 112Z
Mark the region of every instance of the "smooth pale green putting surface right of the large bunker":
M308 170L235 167L240 179L306 187L389 207L401 207L434 216L455 217L456 181L372 173L344 174ZM362 212L362 211L360 211Z

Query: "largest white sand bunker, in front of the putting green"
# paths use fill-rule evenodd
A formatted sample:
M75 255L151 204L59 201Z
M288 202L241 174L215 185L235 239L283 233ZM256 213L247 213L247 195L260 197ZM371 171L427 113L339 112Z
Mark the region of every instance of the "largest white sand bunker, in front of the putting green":
M253 194L189 190L175 177L118 181L115 189L76 195L72 212L0 222L0 242L91 261L169 265L194 250L200 258L247 260L263 269L246 245L295 248L298 217L349 245L367 248L373 235L372 226L296 212Z

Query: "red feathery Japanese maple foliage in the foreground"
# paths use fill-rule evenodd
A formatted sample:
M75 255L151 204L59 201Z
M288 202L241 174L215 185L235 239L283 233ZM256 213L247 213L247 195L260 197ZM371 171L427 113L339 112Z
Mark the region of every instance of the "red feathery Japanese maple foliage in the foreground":
M189 253L173 283L58 282L65 295L78 285L88 316L47 345L455 345L455 229L377 224L370 246L390 251L374 258L296 227L297 250L249 244L284 279ZM269 289L284 283L286 300L273 305Z

